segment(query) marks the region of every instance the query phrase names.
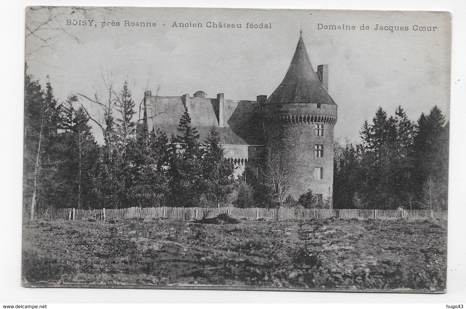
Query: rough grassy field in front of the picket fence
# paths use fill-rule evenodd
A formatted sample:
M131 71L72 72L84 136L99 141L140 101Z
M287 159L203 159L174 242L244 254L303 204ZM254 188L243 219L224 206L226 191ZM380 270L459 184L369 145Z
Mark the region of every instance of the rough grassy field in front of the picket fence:
M23 227L23 282L445 289L439 220L37 220Z

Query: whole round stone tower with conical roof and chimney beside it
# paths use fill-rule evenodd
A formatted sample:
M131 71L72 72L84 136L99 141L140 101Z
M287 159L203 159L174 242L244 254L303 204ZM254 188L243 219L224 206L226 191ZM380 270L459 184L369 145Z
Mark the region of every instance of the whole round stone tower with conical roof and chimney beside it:
M312 190L317 204L333 207L337 105L328 92L328 66L314 71L302 35L266 112L267 158L283 169L285 197L297 200Z

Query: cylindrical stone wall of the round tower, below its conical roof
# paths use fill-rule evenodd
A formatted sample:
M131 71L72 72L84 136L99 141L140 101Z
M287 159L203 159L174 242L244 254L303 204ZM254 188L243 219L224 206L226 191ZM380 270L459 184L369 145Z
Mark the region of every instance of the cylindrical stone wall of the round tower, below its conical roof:
M333 206L333 147L336 105L294 103L278 106L268 121L269 156L282 158L290 173L285 197L296 200L311 189ZM315 125L323 125L317 136ZM315 145L323 145L323 157L316 158ZM322 167L322 179L315 179L315 168Z

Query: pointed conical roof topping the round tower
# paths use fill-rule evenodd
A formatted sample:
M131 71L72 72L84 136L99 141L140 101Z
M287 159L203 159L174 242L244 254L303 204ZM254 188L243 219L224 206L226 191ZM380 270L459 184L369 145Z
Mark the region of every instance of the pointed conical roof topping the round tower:
M285 78L267 101L270 103L335 104L312 67L302 34Z

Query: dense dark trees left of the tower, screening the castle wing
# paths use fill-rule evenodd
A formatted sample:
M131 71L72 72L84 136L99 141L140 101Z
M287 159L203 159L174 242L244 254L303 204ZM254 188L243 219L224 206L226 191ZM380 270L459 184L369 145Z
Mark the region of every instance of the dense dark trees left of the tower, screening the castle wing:
M187 110L169 142L146 121L133 121L126 82L105 103L102 123L77 102L71 95L59 104L50 83L42 89L25 72L23 203L31 213L51 206L217 206L231 194L234 167L223 156L219 132L212 126L201 144ZM92 121L103 145L96 143Z

